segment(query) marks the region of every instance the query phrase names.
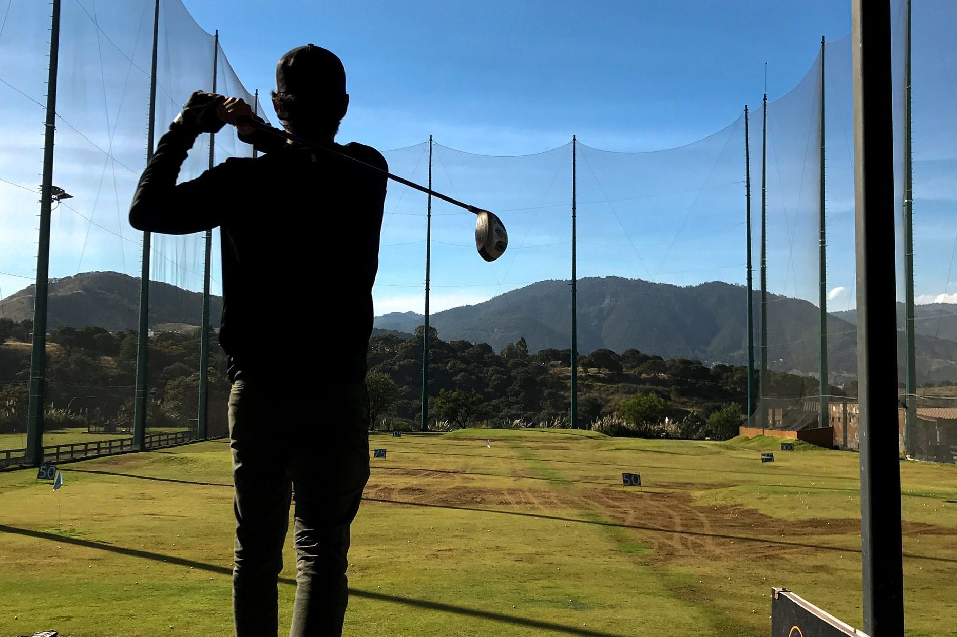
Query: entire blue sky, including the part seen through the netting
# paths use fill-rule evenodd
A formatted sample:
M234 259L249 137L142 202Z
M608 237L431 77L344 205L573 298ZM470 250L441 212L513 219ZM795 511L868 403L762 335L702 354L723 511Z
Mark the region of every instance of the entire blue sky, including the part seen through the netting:
M434 186L500 213L509 252L488 265L470 245L471 215L435 202L434 311L570 276L572 135L580 143L579 276L743 283L741 116L749 104L757 215L766 73L768 287L816 302L813 133L825 35L831 309L855 304L850 45L841 39L851 29L849 3L234 0L227 10L219 0L185 0L192 24L176 2L165 0L157 131L189 91L211 88L204 32L219 30L238 80L259 89L267 115L278 56L315 42L345 62L351 105L339 141L371 144L394 172L424 183L433 135ZM104 11L113 3L64 0L55 183L77 197L55 212L52 275L139 274L140 235L124 215L145 161L151 4L125 0L122 11ZM947 0L918 8L916 287L924 302L957 301L957 46L946 26L957 9ZM0 297L33 276L46 11L33 0L0 0L8 18L0 30ZM240 88L221 70L217 90ZM184 178L203 169L207 149L200 140ZM245 153L217 136L217 161ZM425 206L423 195L389 187L377 314L422 311ZM153 277L199 289L201 258L197 237L156 237Z

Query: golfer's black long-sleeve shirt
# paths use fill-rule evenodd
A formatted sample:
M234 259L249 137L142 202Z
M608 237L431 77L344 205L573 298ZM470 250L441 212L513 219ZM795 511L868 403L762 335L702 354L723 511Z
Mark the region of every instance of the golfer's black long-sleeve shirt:
M276 379L323 369L333 383L361 381L386 177L322 149L280 146L256 159L228 159L177 185L196 137L174 126L160 139L129 223L167 234L220 228L219 342L231 377ZM388 168L367 145L332 147Z

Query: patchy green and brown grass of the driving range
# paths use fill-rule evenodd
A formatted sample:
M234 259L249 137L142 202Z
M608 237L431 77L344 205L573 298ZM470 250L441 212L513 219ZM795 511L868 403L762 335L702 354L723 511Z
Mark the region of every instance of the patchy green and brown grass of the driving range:
M857 455L779 442L373 434L345 634L763 637L772 585L860 626ZM0 473L0 636L233 634L225 441L63 468ZM907 634L953 634L957 468L901 478Z

